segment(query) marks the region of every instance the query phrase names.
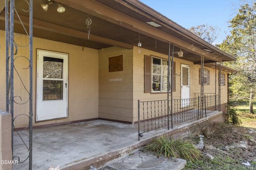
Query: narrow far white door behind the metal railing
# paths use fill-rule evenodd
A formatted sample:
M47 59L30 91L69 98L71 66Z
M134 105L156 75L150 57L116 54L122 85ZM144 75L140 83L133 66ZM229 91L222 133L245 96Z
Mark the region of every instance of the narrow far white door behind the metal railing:
M188 107L189 106L189 98L190 98L190 71L189 65L181 64L181 87L180 87L180 99L181 99L181 107Z

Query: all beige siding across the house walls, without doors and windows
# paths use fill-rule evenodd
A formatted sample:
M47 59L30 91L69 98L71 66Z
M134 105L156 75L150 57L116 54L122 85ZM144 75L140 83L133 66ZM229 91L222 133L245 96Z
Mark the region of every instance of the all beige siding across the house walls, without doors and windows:
M0 31L0 109L5 110L5 31ZM15 41L20 44L27 44L28 37L17 36ZM69 45L45 39L33 38L33 113L36 114L36 49L58 51L69 54L69 82L68 82L68 118L56 119L35 123L33 125L45 125L91 118L114 119L134 123L138 120L138 100L165 100L167 93L150 94L144 93L144 55L154 55L168 59L167 55L134 47L133 50L110 47L96 50ZM18 47L16 56L29 55L28 47ZM123 55L123 70L109 72L108 58ZM190 66L190 98L200 93L199 69L200 65L174 58L176 62L176 91L173 92L174 99L180 99L180 66ZM24 84L28 87L29 77L28 61L20 57L15 61ZM215 69L210 70L210 85L204 86L204 93L215 93ZM218 73L218 71L217 71ZM226 85L221 86L221 104L227 102L227 73L225 74ZM218 75L217 75L218 76ZM23 102L28 94L22 87L18 75L14 74L15 92L17 102ZM218 80L218 78L217 78ZM218 84L218 83L217 83ZM218 94L218 85L217 85ZM20 113L28 114L28 104L14 106L14 116ZM26 116L19 116L15 120L16 127L24 127L28 123Z

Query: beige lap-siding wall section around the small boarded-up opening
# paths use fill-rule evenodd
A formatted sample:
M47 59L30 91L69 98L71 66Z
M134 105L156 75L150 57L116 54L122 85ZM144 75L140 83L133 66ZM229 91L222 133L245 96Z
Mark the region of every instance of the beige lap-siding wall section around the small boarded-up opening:
M123 55L123 70L109 72L108 58ZM132 50L110 47L99 50L99 117L132 122Z

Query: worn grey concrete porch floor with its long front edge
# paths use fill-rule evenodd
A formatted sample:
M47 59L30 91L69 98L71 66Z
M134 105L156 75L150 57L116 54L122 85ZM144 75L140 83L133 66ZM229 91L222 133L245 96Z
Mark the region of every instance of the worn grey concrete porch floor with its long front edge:
M138 124L130 125L112 121L94 120L52 127L33 129L32 169L48 170L50 165L61 170L90 169L102 167L106 162L121 158L134 149L149 143L154 136L163 133L174 134L188 129L193 124L212 119L222 114L214 111L200 120L176 123L173 129L167 127L143 133L138 141ZM28 145L28 130L18 131ZM28 150L14 131L14 156L23 161ZM14 158L17 160L17 157ZM14 164L13 170L27 170L28 160Z

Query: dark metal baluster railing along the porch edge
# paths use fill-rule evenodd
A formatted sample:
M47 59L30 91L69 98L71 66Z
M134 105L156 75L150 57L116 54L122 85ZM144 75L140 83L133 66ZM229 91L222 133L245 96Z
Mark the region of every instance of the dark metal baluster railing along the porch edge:
M160 127L169 127L169 124L206 117L208 113L219 110L218 96L217 94L189 99L173 99L169 115L168 100L138 100L138 139L140 140L145 132Z

